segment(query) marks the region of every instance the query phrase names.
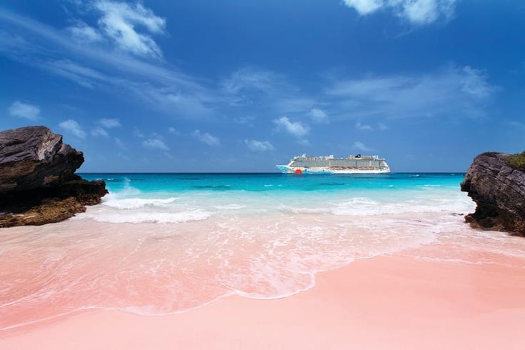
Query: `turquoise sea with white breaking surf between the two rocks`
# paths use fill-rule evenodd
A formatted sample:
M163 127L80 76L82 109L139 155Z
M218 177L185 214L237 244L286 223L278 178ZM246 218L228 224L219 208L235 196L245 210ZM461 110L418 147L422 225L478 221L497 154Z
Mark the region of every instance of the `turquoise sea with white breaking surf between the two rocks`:
M82 216L110 223L249 221L261 214L370 216L471 206L464 174L81 174L109 195Z

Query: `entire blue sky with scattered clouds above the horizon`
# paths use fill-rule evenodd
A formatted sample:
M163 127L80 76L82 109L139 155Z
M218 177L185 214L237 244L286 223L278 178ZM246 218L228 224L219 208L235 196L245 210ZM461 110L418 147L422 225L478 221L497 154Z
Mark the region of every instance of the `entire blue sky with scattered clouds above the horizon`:
M525 149L524 33L518 0L6 0L0 129L49 126L81 171L465 171Z

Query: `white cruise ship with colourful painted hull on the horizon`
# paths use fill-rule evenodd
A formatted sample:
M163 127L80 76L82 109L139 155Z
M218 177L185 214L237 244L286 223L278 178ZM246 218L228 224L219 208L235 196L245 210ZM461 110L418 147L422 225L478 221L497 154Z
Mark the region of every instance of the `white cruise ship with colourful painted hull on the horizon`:
M276 165L283 174L386 174L389 164L379 156L364 154L347 158L334 156L296 156L288 165Z

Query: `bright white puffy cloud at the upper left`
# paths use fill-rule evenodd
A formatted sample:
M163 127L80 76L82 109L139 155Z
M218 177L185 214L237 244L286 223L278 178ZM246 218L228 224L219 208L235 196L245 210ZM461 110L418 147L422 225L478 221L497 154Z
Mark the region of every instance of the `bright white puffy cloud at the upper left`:
M148 34L137 31L146 29L151 34L164 33L166 20L156 16L140 3L135 5L109 0L96 1L95 9L101 11L99 25L120 49L141 56L161 57L161 49Z

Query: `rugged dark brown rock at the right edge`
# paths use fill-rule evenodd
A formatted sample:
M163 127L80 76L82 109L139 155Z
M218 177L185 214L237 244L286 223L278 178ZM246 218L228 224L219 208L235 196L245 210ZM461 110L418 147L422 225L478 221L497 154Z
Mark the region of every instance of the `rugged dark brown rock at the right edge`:
M474 227L525 236L525 170L507 165L508 156L494 152L476 156L461 183L461 191L477 204L465 219Z

